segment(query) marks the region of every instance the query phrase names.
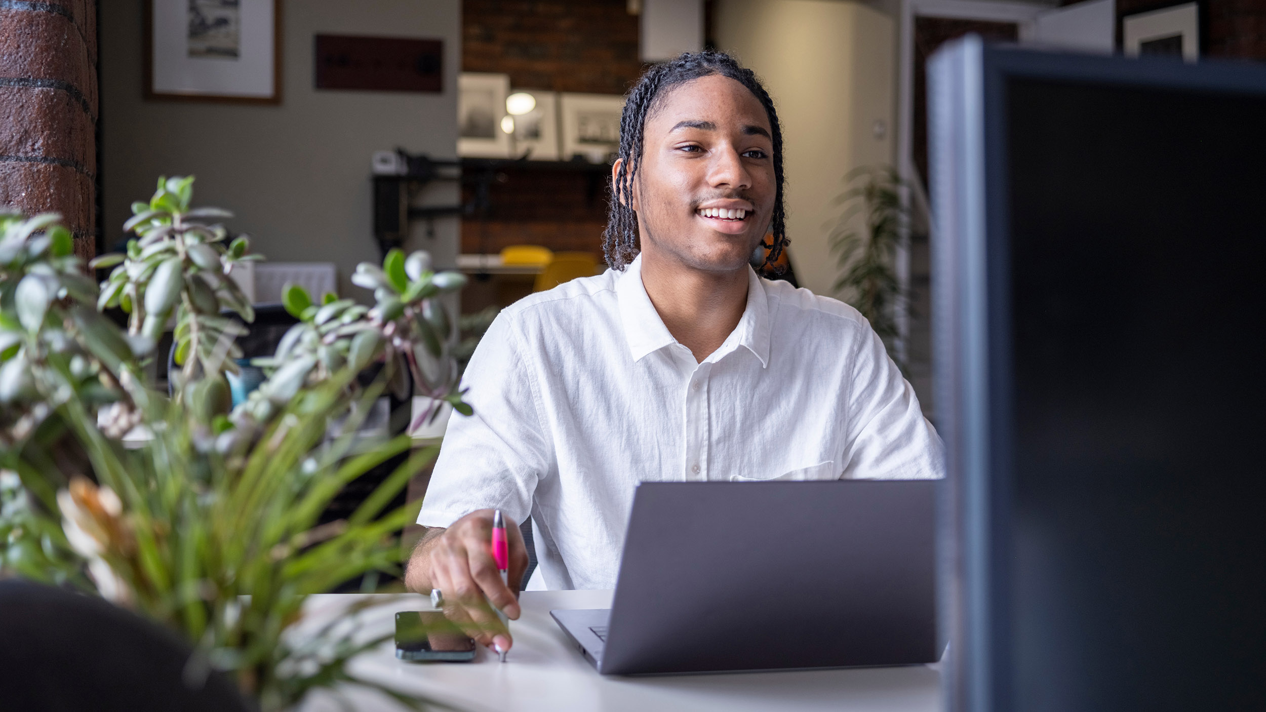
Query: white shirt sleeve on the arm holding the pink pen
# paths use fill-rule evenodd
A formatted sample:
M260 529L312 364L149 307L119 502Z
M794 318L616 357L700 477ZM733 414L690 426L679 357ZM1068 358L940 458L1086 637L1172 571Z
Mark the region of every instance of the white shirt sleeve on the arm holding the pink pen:
M476 509L500 508L515 522L532 512L549 461L525 352L511 317L501 313L480 340L462 376L472 416L453 413L418 523L447 527Z

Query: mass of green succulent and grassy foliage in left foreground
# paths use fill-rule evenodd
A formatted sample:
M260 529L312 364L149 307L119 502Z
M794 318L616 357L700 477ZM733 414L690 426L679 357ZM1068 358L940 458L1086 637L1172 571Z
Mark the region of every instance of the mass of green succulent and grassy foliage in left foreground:
M300 323L261 360L271 376L230 410L224 371L241 328L220 310L249 319L227 275L256 257L242 238L223 245L224 228L201 220L228 213L191 209L191 177L160 180L133 205L141 238L96 261L116 267L100 290L54 215L0 217L0 575L95 590L175 628L196 650L187 679L223 670L263 709L341 683L420 704L347 671L381 639L290 632L308 594L400 574L398 532L418 507L387 507L438 448L410 452L408 436L367 442L356 428L396 374L468 412L441 300L463 277L392 252L357 272L372 307L315 304L287 286ZM127 332L99 313L111 304L128 310ZM186 359L168 399L144 381L142 359L172 317ZM382 374L360 385L375 362ZM125 443L137 429L143 442ZM73 445L53 451L71 455L51 455L51 442ZM401 455L353 514L318 523L344 484Z

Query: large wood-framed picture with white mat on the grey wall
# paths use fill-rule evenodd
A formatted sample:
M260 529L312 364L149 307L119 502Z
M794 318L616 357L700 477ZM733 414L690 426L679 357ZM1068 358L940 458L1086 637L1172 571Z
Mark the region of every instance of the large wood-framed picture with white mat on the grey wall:
M281 0L146 0L147 99L281 103Z

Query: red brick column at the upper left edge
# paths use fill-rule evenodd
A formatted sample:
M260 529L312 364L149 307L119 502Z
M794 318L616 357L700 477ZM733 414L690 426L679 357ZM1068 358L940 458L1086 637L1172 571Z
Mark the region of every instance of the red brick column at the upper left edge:
M96 8L0 0L0 205L61 213L95 253Z

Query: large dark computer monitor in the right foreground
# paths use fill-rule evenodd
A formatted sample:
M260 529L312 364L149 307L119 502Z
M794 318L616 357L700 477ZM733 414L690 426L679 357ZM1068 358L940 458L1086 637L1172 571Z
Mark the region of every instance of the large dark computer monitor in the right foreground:
M951 708L1261 708L1266 66L929 82Z

